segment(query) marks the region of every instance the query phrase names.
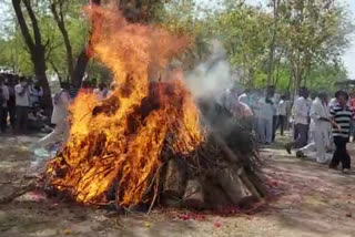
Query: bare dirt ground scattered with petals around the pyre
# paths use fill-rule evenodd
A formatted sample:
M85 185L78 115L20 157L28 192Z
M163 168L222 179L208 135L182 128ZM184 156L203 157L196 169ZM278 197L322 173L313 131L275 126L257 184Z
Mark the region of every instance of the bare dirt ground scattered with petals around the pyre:
M31 171L29 146L38 136L0 136L0 199L31 182L23 176ZM349 150L355 155L355 145ZM288 156L277 148L264 150L262 158L273 186L272 198L253 215L225 217L156 209L150 216L122 216L31 192L0 206L0 236L355 236L354 175L331 173L324 165Z

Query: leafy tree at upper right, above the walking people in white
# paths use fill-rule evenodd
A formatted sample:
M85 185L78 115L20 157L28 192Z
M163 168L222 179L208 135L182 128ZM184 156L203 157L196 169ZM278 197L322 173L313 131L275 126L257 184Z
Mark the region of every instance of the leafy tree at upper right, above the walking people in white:
M313 66L341 62L352 25L346 11L333 0L283 0L280 3L282 40L294 80L294 92L307 84Z

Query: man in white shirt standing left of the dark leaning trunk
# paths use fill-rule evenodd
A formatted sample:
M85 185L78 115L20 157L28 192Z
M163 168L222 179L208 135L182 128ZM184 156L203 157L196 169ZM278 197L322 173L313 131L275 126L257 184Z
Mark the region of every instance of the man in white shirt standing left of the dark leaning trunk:
M30 92L28 89L28 81L24 76L21 76L20 83L14 86L14 95L17 132L26 132L30 107Z

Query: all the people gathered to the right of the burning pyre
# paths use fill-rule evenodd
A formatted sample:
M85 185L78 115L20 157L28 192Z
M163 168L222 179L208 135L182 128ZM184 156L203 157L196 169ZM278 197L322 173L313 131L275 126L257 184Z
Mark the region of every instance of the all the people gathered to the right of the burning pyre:
M265 93L266 91L266 93ZM342 172L348 173L351 157L346 144L355 137L355 93L336 92L328 101L328 93L312 93L300 89L298 96L291 102L287 95L277 95L273 86L263 91L231 90L224 99L224 106L243 124L247 121L256 141L270 145L293 125L293 141L285 144L288 154L295 150L297 157L310 157Z

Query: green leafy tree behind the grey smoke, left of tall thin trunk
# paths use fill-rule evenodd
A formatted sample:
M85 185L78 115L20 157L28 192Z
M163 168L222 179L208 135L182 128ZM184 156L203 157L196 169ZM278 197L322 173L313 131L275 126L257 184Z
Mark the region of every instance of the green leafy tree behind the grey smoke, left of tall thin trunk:
M261 8L240 3L216 16L216 32L224 42L232 65L242 71L242 83L254 86L257 71L264 70L272 18Z

